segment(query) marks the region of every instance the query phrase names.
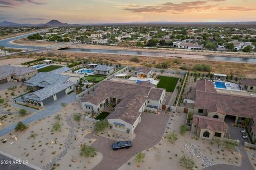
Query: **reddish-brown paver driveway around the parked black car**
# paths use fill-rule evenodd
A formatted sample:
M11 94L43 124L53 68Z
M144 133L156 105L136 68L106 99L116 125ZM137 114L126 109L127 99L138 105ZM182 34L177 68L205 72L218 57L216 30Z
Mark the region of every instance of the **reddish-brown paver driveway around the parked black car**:
M111 143L115 142L114 140L88 134L86 138L97 139L92 146L103 155L100 164L95 166L93 170L118 169L138 152L155 146L162 139L168 120L169 115L163 113L159 115L142 113L141 122L134 131L136 137L132 140L132 147L129 149L114 151L111 149Z

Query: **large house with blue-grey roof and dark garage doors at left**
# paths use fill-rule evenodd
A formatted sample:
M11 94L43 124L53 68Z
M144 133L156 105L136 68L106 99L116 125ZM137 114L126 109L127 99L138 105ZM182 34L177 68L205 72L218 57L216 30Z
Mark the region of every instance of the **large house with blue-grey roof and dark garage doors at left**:
M43 107L73 91L80 77L69 75L75 73L65 71L70 71L70 69L68 67L61 67L47 73L40 72L35 77L27 80L25 85L34 92L23 96L25 102Z

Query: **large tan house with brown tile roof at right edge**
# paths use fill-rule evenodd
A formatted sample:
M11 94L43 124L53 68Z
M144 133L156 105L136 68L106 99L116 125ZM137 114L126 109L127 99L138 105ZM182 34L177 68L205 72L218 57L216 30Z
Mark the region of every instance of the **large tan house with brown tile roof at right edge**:
M234 123L243 123L245 118L251 118L251 120L254 120L255 122L255 111L255 97L221 93L214 89L212 81L199 80L196 83L196 99L191 130L193 132L196 132L199 137L202 137L204 139L213 139L217 137L213 132L218 132L221 133L221 135L218 134L218 136L220 136L218 138L222 139L222 135L225 135L227 128L222 128L222 131L219 131L220 129L217 129L220 126L224 127L223 123L226 117L233 118ZM196 120L201 118L203 118L203 121L205 122L204 125L198 123L198 121ZM207 133L207 135L203 135L206 125L208 127L206 129L209 130L209 133L210 131L212 131L212 133L210 133L210 136L208 135L209 133ZM252 133L256 134L255 126L252 126L251 129Z

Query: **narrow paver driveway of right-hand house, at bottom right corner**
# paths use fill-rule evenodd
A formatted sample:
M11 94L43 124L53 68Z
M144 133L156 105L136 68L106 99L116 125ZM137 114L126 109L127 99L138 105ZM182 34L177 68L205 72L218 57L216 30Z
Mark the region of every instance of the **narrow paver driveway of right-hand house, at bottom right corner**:
M225 119L225 122L228 124L230 138L239 140L239 150L241 152L242 157L242 164L241 166L235 166L235 165L225 165L225 164L219 164L219 165L213 165L207 168L204 168L203 170L217 170L217 169L225 169L225 170L254 170L253 166L250 163L249 157L247 155L247 152L244 148L244 139L240 133L242 130L241 128L235 128L231 123L233 123L233 120Z

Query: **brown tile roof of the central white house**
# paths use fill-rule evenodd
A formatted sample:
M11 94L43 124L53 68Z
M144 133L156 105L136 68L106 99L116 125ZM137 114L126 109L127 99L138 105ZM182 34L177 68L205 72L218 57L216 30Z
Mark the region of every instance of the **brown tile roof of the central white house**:
M115 111L107 118L120 118L127 123L133 124L141 114L139 109L147 98L158 100L163 90L165 89L143 86L136 83L102 81L91 94L83 96L82 102L88 101L94 105L99 105L108 97L122 99L116 105Z

